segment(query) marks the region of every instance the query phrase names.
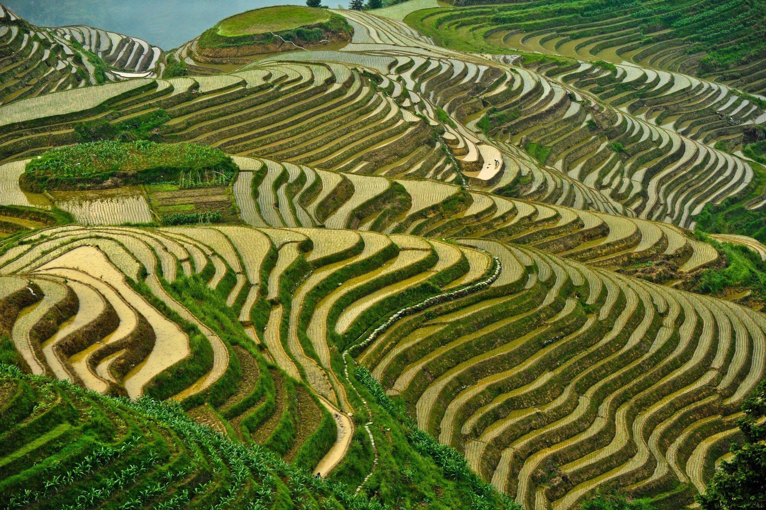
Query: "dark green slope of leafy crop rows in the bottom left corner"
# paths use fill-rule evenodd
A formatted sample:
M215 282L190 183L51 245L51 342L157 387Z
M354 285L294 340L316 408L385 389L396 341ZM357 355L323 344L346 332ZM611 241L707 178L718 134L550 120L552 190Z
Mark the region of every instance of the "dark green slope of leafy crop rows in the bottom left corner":
M11 438L2 508L392 508L221 436L175 402L104 396L5 364L0 388L12 395L0 406Z

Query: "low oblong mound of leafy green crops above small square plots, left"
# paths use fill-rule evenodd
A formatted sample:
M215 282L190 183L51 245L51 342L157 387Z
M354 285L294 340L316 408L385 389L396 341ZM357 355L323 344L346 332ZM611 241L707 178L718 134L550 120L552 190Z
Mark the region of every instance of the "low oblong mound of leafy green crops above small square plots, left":
M46 189L104 189L172 182L193 176L228 182L237 166L221 150L198 143L98 141L49 150L27 163L21 185Z

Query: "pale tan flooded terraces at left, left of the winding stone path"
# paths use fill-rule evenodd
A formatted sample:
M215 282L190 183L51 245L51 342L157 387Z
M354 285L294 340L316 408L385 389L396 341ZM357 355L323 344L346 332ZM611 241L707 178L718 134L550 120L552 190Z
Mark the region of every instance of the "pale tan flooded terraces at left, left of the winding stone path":
M373 268L368 274L362 273L352 280L356 281L354 285L349 284L349 287L340 287L335 291L336 294L340 292L343 298L349 298L362 295L353 291L360 286L365 289L380 288L372 303L365 305L360 301L360 304L355 304L352 320L342 316L345 324L343 331L346 331L351 324L358 323L354 319L367 324L371 318L363 312L372 305L384 314L386 310L397 308L400 301L395 296L401 290L411 288L419 281L440 281L440 278L447 278L444 280L447 284L463 276L469 268L460 267L456 271L461 252L450 245L434 252L425 242L421 245L425 249L413 250L407 237L402 240L402 248L398 248L395 236L389 240L385 235L373 233L365 234L364 238L354 234L348 242L339 244L339 236L349 231L331 232L316 229L257 230L241 226L159 230L106 226L47 229L34 237L36 242L18 246L23 249L6 252L0 262L0 271L4 274L25 275L24 278L27 278L5 280L4 288L8 286L8 294L27 291L23 284L25 281L28 281L26 285L37 289L35 297L38 301L18 314L11 337L35 373L49 373L54 377L74 380L100 393L116 391L135 398L146 392L147 385L155 385L156 378L162 377L163 373L173 373L174 367L188 364L188 360L199 356L195 353L195 347L191 346L189 335L201 334L198 341L207 344L212 352L211 367L198 380L188 380L188 387L180 388L175 395L177 400L191 398L224 376L230 362L231 347L227 347L210 327L198 321L182 301L171 294L172 287L168 285L177 278L195 274L208 275L212 285L216 280L214 273L219 270L219 265L212 260L220 258L224 271L231 275L228 278L244 273L244 278L234 278L237 285L231 290L235 300L237 295L248 295L244 304L238 305L243 311L242 323L254 325L273 360L286 374L295 380L305 377L309 387L320 395L326 395L330 402L325 405L339 413L332 407L336 404L331 402L343 400L335 393L339 390L329 383L322 360L305 354L298 339L290 341L281 338L280 323L284 307L297 311L290 314L288 326L288 331L297 331L300 321L306 321L306 312L311 314L314 311L313 308L301 308L301 300L306 294L316 292L317 288L324 288L325 281L333 278L339 267L357 260L388 258L383 271ZM369 248L366 248L367 242ZM51 250L50 247L54 248ZM306 252L306 247L310 247L309 252ZM275 248L278 248L276 262L265 262ZM441 253L444 249L448 255ZM349 260L341 258L332 262L344 253ZM309 269L315 268L316 272L309 273L308 279L303 278L303 285L290 301L272 304L266 324L260 324L255 318L257 312L254 308L261 303L268 306L267 300L278 302L285 298L280 289L295 285L292 281L300 275L291 273L290 268L295 267L299 259ZM325 267L327 262L322 261L331 264ZM182 271L176 271L177 267ZM464 283L482 277L486 270L486 261L480 262L480 267L471 271L473 276L464 278ZM146 276L141 277L142 274ZM450 276L442 277L443 274ZM261 280L264 276L266 280ZM221 285L221 278L218 278L218 285ZM6 281L8 285L5 285ZM143 281L149 294L130 283L132 281ZM396 284L396 281L402 283ZM264 294L260 294L261 291ZM336 294L329 294L328 299L331 299L325 302L336 303ZM235 300L229 299L228 303L232 305ZM96 303L99 305L96 306ZM54 334L50 338L41 341L38 333L42 327L41 318L52 309L62 311L60 324L54 326ZM322 306L317 308L322 309ZM189 330L189 323L195 324L195 328ZM310 331L309 328L309 335L312 334ZM310 341L322 343L326 342L326 337L312 337ZM237 354L237 357L244 356ZM253 357L254 354L247 356ZM260 363L257 359L254 357L247 363ZM244 363L244 360L239 363ZM300 370L297 367L301 367ZM303 373L306 375L303 376ZM231 414L230 417L233 420L237 416L241 414ZM252 434L257 427L246 430ZM350 437L346 439L350 440ZM337 462L340 460L337 459Z

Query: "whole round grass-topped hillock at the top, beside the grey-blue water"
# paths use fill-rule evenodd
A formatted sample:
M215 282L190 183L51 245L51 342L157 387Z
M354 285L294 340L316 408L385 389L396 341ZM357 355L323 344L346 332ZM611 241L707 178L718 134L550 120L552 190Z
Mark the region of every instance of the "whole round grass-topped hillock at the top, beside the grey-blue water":
M324 42L351 41L348 21L326 9L277 5L219 21L200 36L197 50L211 58L292 51Z

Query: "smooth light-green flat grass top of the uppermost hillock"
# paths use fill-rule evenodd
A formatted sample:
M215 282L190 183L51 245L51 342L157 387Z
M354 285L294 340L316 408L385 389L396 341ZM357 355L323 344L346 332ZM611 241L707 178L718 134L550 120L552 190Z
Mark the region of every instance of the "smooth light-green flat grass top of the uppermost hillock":
M330 18L330 12L302 5L276 5L242 12L218 23L216 33L224 37L263 34L315 25Z

